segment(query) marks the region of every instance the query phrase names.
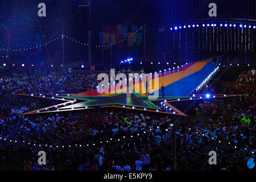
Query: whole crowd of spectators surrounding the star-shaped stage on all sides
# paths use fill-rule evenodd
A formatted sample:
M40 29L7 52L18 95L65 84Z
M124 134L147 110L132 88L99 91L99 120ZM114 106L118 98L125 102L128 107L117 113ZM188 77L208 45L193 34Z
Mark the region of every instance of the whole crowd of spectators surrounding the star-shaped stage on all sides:
M24 170L34 171L246 170L246 157L256 144L254 77L254 69L243 72L227 91L242 96L201 102L195 113L198 118L207 117L205 121L103 109L28 117L10 113L0 122L0 167L11 163L12 169L23 164ZM2 77L1 97L5 99L1 102L12 102L7 96L19 92L56 93L54 89L61 86L50 86L50 80L61 85L67 81L63 90L70 92L65 89L70 86L72 90L76 84L69 85L68 76L62 78L59 81L61 76L53 74L10 80ZM81 76L76 82L79 80L82 82ZM22 104L22 110L31 107L26 105L31 101L17 103ZM6 109L11 106L6 105ZM41 150L46 151L46 165L37 163ZM218 165L208 164L212 150L217 152Z

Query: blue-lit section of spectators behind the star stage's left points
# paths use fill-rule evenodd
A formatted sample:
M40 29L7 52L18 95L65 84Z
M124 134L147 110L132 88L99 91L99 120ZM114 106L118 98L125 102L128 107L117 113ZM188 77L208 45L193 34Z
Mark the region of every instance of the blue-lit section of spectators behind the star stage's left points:
M40 107L34 98L20 98L17 93L80 93L96 89L97 75L90 73L49 73L40 76L23 76L18 73L2 75L0 78L0 118ZM24 106L24 103L27 105Z

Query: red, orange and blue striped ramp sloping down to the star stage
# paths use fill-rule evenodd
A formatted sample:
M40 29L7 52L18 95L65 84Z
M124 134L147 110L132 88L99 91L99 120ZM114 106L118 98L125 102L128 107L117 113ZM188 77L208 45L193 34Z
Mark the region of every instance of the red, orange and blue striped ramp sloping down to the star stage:
M212 59L195 61L175 69L175 71L167 71L164 73L159 73L158 78L158 88L161 88L164 84L164 95L165 96L188 96L196 87L203 81L216 67L216 63L213 63ZM155 92L158 90L159 96L162 96L161 89L154 89L154 79L150 80L150 85L153 86L150 92ZM142 96L147 96L143 94L142 90L137 90L136 88L142 88L142 83L139 79L134 81L134 89L140 93ZM110 88L109 88L110 92ZM75 94L75 96L111 96L118 92L125 92L125 89L115 90L115 93L99 93L99 89L91 90L89 92ZM150 95L153 95L151 93Z

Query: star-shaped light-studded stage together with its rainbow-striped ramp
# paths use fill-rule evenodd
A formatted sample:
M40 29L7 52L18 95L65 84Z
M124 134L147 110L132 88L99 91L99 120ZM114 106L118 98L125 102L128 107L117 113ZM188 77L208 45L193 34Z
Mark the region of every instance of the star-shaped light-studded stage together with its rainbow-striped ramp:
M28 111L23 114L57 113L63 111L79 111L95 109L96 107L116 107L119 109L141 110L155 113L175 114L187 116L185 111L175 107L176 102L196 101L210 98L234 97L238 95L211 95L207 96L194 94L194 90L207 82L208 78L218 69L217 63L212 59L194 61L183 65L180 68L166 68L159 71L158 87L154 86L154 76L150 80L151 94L143 94L135 88L142 88L142 80L134 80L133 96L127 97L125 88L115 90L114 93L102 93L100 89L90 90L79 94L19 94L28 97L38 97L41 99L53 100L58 104L53 104L41 109ZM164 84L164 97L162 97L161 86ZM109 87L110 90L110 87ZM155 91L159 97L149 99Z

